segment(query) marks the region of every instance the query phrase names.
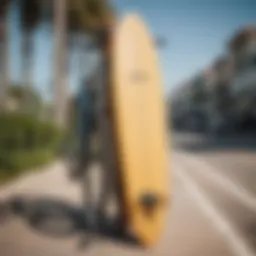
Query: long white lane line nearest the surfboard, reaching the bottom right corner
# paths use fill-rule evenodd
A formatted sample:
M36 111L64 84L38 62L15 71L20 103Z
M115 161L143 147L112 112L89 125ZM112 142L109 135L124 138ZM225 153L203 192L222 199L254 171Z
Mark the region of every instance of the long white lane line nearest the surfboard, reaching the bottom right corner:
M228 240L230 248L237 256L255 256L255 253L247 245L244 238L234 230L228 219L218 211L211 200L199 188L198 185L186 175L185 171L178 166L175 175L182 180L185 188L191 196L196 200L198 205L205 212L207 217L214 223L219 232Z

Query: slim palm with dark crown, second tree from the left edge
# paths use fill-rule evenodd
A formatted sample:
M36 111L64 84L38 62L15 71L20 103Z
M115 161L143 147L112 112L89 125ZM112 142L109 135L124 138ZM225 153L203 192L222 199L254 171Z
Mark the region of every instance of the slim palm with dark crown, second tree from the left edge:
M40 21L40 5L38 0L22 0L21 29L22 29L22 83L29 91L33 85L33 32ZM25 106L29 108L29 96L25 96Z

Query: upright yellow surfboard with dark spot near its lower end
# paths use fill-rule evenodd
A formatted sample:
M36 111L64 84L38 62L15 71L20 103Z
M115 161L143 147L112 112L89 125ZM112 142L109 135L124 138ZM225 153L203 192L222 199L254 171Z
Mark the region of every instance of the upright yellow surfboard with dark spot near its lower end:
M152 246L168 204L167 136L155 45L135 14L113 31L110 72L126 224L142 244Z

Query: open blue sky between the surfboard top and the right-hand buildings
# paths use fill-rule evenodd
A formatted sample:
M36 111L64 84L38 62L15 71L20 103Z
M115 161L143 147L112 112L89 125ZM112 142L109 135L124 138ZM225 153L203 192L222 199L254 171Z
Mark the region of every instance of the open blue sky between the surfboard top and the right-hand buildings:
M256 25L255 0L114 0L120 17L142 16L153 35L167 39L159 49L166 92L177 88L226 54L227 43L244 26Z

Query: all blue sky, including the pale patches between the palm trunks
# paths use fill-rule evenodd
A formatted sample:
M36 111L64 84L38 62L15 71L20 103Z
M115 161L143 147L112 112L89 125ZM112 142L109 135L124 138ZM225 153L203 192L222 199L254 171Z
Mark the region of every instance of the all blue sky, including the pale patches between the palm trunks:
M227 53L227 43L244 26L256 25L255 0L110 0L120 19L136 12L145 20L151 33L167 39L158 49L165 92L169 93L185 80L209 67L219 56ZM20 78L18 53L20 34L17 13L12 14L10 33L12 73ZM35 34L34 80L45 95L52 85L53 43L49 31L41 27ZM85 69L89 67L85 67ZM70 78L71 88L77 87L75 69Z

